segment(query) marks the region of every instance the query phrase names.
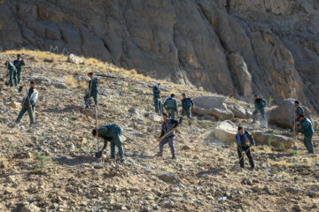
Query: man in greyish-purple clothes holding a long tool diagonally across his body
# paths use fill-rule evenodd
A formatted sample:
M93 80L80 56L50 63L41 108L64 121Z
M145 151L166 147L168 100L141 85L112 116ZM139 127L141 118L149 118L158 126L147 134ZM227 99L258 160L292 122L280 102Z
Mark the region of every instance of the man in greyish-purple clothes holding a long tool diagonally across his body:
M164 145L168 143L168 146L172 153L172 159L176 159L175 155L175 130L178 125L178 122L174 119L169 119L167 113L163 113L163 123L161 125L161 133L159 139L159 153L157 156L163 156Z

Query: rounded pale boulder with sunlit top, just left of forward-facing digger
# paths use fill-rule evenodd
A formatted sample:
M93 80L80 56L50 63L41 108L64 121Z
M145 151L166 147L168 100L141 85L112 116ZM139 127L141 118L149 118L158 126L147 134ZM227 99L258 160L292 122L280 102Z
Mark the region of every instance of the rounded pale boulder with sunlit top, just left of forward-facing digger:
M226 143L234 142L237 134L237 125L231 121L223 121L214 130L214 137Z

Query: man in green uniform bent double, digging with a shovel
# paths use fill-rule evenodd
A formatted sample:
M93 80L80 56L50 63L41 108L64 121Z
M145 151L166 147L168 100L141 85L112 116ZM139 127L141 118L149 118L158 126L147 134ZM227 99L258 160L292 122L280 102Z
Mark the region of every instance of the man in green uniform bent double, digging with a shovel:
M107 142L111 142L111 159L115 159L115 146L119 149L119 155L121 158L118 158L116 161L124 162L124 149L121 142L121 136L123 134L123 129L120 125L102 125L98 129L93 129L92 134L94 137L103 138L104 146L101 151L97 152L96 157L100 158L107 147Z

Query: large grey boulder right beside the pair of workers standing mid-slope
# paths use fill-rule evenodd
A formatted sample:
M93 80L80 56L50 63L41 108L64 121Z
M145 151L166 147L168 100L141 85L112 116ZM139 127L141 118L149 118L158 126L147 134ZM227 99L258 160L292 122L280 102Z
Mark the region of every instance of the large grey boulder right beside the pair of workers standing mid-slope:
M194 98L193 112L199 116L212 115L219 120L231 120L234 113L227 109L225 96L212 95L212 96L198 96Z

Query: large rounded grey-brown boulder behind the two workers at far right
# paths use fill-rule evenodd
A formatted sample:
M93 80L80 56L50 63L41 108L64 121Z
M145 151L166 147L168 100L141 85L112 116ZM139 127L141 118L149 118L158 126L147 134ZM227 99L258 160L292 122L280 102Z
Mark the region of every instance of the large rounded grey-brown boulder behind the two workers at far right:
M283 128L292 128L292 118L294 117L294 99L285 99L275 109L270 110L267 114L268 123ZM310 111L303 106L306 116L310 117Z

